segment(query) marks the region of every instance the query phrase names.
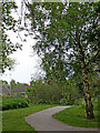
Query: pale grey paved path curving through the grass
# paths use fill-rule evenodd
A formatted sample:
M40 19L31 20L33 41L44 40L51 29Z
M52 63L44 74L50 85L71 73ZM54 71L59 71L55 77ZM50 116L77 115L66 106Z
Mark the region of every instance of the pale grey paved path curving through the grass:
M63 124L52 117L59 111L70 106L50 108L26 117L26 121L34 127L36 131L98 131L98 129L76 127Z

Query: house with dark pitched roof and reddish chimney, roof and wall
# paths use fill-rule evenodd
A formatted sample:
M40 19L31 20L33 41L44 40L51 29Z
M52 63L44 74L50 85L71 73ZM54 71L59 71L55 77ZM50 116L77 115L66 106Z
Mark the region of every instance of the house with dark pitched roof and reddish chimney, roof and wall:
M22 84L21 86L19 86L18 89L16 89L14 91L12 91L12 94L13 95L19 95L19 94L21 94L22 96L26 94L26 89L27 88L30 88L30 85L28 85L28 84Z

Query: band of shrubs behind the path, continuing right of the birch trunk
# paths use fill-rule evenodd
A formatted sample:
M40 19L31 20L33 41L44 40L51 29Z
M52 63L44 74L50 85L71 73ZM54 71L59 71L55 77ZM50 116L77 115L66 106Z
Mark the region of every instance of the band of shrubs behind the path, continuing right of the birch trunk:
M74 76L74 75L73 75ZM82 79L71 76L69 80L48 83L47 80L32 81L32 86L27 88L27 100L33 104L84 104ZM92 100L99 95L99 79L90 75L90 93ZM77 101L80 101L77 103Z

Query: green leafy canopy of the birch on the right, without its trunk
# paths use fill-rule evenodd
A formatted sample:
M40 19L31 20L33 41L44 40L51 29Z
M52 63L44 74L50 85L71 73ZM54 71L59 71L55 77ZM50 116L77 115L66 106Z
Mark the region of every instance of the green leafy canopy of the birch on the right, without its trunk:
M100 2L82 3L30 3L27 4L32 31L37 40L33 49L42 58L49 80L64 80L72 72L80 73L81 51L88 71L99 61L99 7ZM33 12L33 13L32 13ZM92 34L92 39L91 39Z

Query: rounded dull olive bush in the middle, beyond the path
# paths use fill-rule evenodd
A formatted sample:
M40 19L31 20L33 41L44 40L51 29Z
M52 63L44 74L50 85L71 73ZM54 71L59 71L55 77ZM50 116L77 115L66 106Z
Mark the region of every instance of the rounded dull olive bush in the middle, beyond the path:
M36 84L34 89L36 93L33 92L34 96L32 96L34 104L59 104L62 90L58 84Z

